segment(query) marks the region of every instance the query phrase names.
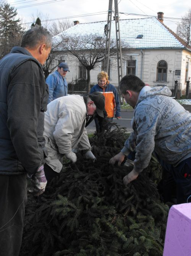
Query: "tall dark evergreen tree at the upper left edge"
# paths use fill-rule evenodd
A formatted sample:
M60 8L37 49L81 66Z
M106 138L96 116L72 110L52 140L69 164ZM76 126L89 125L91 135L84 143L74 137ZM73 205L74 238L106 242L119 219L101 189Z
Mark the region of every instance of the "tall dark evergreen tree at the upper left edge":
M19 45L23 29L17 12L8 3L0 4L0 58L10 52L13 46Z

